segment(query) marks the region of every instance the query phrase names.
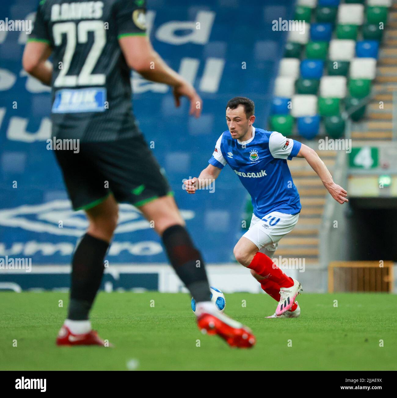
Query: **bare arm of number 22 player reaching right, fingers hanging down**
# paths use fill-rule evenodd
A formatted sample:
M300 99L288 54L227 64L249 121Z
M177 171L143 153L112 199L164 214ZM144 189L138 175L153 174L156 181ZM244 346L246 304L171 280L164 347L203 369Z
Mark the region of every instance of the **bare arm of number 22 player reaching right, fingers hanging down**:
M190 100L189 114L199 117L202 101L196 90L154 51L147 36L121 37L119 44L131 69L147 80L172 86L176 107L180 105L180 97L185 96Z

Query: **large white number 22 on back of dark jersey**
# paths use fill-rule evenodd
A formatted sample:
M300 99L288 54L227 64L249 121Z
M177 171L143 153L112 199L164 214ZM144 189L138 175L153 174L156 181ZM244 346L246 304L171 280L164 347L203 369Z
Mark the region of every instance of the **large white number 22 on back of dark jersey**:
M76 32L77 30L77 32ZM94 32L94 44L91 47L86 62L78 76L66 76L70 68L70 62L76 50L76 43L87 43L88 32ZM62 69L54 82L54 87L76 86L101 86L105 84L104 74L92 74L102 50L106 44L106 33L103 21L60 22L53 25L53 36L56 46L62 44L62 35L66 33L66 48L63 55ZM77 33L77 34L76 34Z

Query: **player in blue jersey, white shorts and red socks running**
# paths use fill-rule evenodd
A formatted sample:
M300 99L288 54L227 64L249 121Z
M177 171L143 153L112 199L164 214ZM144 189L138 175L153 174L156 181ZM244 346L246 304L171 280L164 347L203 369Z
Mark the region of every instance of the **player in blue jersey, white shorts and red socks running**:
M291 232L301 211L287 160L305 158L338 203L348 202L347 192L334 183L313 149L277 131L258 129L253 126L254 121L254 102L244 97L232 98L226 105L229 130L217 140L207 168L198 178L186 180L185 189L195 193L213 182L229 164L251 195L254 208L250 228L233 250L235 258L250 268L262 289L278 301L275 314L268 318L296 318L300 308L295 298L301 284L271 259L278 242Z

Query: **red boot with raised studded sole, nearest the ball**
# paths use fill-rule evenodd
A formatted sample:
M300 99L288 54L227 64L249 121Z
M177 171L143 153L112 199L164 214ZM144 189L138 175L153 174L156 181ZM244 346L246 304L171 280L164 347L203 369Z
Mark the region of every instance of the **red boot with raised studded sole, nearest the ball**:
M201 314L197 318L197 326L202 333L217 334L230 347L250 348L256 342L250 329L221 312L218 314Z

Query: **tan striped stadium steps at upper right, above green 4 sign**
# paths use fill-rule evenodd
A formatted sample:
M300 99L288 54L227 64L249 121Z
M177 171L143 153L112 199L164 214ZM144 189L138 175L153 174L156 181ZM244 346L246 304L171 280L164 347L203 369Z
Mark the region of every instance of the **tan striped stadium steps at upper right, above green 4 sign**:
M393 4L389 12L367 117L362 122L352 123L354 141L393 139L393 91L397 91L397 4ZM383 109L379 108L380 101Z

